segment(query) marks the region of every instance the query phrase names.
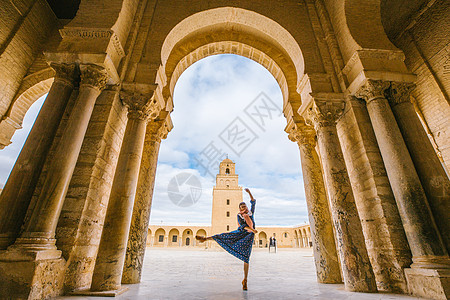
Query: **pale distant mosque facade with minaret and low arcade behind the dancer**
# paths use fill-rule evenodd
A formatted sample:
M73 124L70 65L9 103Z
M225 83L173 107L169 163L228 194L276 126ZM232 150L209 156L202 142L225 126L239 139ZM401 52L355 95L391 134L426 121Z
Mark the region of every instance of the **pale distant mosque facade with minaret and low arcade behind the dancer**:
M236 214L243 201L242 187L238 184L235 163L225 159L220 163L216 185L213 187L211 225L202 224L161 224L148 228L149 247L217 247L214 241L198 243L196 235L209 236L235 230L238 227ZM248 205L250 205L248 203ZM254 247L269 247L270 237L275 237L281 248L312 247L311 231L308 224L297 226L258 226L256 219Z

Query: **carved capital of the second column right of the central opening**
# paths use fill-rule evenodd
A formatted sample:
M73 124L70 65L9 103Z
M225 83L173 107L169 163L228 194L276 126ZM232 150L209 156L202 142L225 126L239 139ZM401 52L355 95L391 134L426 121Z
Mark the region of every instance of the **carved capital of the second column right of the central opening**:
M343 99L317 99L307 110L308 118L314 124L314 128L335 126L344 113L345 101Z

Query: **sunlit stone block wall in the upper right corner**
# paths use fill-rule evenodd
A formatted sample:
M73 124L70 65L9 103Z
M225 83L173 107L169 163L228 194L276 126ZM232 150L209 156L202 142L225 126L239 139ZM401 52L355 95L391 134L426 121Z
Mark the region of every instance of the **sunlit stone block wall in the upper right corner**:
M432 2L432 1L431 1ZM412 25L406 31L406 26ZM430 130L430 138L450 171L450 2L437 0L422 14L391 33L405 53L405 63L417 75L412 96Z

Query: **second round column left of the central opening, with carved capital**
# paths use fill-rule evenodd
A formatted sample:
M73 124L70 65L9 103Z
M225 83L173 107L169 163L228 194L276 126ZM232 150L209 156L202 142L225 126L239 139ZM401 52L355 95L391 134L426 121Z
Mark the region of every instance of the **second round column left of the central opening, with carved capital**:
M153 108L151 95L122 90L129 107L128 123L106 211L91 291L121 290L122 271L130 231L147 120Z

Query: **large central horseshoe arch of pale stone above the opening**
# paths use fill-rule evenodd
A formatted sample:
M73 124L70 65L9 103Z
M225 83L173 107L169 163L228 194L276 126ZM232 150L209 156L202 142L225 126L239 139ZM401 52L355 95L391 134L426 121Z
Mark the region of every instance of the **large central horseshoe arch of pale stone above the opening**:
M272 19L236 7L214 8L185 18L166 36L156 97L168 100L167 107L172 107L181 73L199 59L220 53L242 55L266 67L282 89L283 107L301 102L297 86L306 71L323 71L316 56L309 55L305 61L294 37Z

